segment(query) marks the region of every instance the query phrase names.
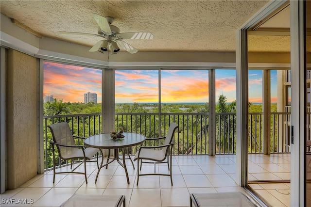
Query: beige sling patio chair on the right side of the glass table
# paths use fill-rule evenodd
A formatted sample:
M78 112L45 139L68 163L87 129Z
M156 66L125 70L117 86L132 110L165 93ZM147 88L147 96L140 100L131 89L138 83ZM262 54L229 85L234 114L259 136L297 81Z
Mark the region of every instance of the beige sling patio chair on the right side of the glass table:
M159 138L151 138L146 139L145 142L148 141L158 141L159 145L157 146L140 146L138 152L135 155L134 161L137 160L137 185L139 181L139 176L143 175L166 175L171 177L171 184L173 186L173 179L172 179L172 149L173 149L173 137L175 130L178 126L175 123L171 123L169 127L169 131L166 136L159 137ZM162 143L161 143L161 140ZM148 161L150 160L150 161ZM139 161L140 161L140 168L139 168ZM140 174L139 171L141 170L142 163L167 163L170 174L161 174L161 173L148 173L148 174Z

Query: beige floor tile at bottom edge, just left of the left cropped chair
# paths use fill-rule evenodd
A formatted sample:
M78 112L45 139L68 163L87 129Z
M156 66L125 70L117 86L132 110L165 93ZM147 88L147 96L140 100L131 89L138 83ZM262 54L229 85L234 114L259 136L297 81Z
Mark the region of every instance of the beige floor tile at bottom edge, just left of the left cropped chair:
M60 206L69 199L77 188L52 188L45 193L33 206Z

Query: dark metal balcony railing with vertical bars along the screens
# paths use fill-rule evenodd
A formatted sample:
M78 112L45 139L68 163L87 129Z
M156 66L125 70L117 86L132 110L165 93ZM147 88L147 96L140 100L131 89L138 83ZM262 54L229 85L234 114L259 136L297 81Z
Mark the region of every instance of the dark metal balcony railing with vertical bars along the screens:
M45 169L52 167L52 135L47 126L67 121L72 133L88 137L102 133L102 114L76 114L44 116ZM208 113L116 113L116 127L126 132L141 133L146 138L165 136L171 122L179 128L174 137L174 155L208 154ZM249 113L249 153L263 152L263 113ZM236 152L236 113L216 113L216 154L235 154ZM290 113L271 113L270 153L287 153L289 148ZM81 143L80 143L81 144ZM153 143L145 142L147 145ZM130 149L136 153L137 146ZM121 150L121 149L120 149ZM68 164L60 162L59 166Z

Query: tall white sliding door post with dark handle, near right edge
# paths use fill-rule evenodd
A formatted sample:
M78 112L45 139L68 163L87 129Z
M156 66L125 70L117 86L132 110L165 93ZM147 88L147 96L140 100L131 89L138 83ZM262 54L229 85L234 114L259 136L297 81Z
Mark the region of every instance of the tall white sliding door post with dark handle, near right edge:
M306 71L304 68L304 1L290 1L291 18L291 206L305 206L304 149L306 114Z

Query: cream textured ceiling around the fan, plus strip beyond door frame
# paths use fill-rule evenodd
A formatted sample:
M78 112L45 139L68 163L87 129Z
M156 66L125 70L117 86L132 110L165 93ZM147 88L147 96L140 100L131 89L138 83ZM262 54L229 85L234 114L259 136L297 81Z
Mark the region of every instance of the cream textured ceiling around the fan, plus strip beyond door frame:
M1 14L42 36L92 47L101 37L92 14L114 17L121 32L152 32L124 40L139 51L235 51L235 32L268 0L0 0ZM287 36L250 36L250 51L288 52ZM271 41L271 44L267 44Z

